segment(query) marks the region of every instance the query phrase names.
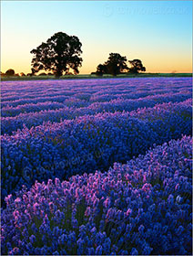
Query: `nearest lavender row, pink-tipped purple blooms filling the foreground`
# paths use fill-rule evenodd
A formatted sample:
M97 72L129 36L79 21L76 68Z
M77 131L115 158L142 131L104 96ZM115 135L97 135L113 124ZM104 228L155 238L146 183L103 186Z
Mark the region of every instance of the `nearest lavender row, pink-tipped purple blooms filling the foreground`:
M2 254L191 255L192 140L5 198Z

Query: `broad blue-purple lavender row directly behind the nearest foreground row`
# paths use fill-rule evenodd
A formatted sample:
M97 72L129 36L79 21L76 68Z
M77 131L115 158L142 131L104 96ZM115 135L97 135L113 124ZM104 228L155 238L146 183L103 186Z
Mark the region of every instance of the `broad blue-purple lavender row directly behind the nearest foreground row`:
M134 155L145 154L153 144L191 134L190 100L137 112L85 115L5 134L2 198L23 184L31 186L36 179L46 181L107 169L114 162L124 163Z

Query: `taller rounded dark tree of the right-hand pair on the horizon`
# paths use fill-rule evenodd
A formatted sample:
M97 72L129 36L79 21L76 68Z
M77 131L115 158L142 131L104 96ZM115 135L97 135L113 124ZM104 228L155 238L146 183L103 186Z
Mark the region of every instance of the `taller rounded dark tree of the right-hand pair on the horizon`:
M119 53L110 53L105 66L107 67L107 73L113 76L124 72L128 69L127 58L121 56Z

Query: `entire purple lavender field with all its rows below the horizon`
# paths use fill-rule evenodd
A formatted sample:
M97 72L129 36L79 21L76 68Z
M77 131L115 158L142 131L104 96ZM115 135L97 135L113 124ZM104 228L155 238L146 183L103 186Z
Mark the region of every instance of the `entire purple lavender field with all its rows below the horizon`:
M191 255L192 79L2 82L3 255Z

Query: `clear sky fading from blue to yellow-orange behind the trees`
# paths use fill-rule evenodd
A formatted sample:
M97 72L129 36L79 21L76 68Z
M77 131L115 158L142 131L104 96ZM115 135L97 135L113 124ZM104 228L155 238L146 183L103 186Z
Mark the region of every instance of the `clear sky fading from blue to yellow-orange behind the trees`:
M147 72L192 72L191 1L2 1L1 71L30 72L30 51L59 31L82 43L80 74L110 52Z

